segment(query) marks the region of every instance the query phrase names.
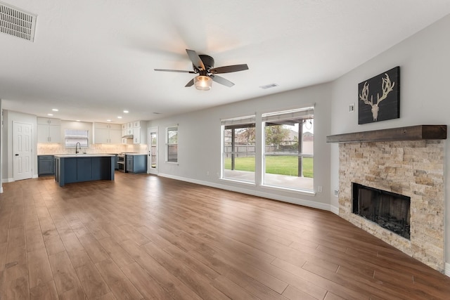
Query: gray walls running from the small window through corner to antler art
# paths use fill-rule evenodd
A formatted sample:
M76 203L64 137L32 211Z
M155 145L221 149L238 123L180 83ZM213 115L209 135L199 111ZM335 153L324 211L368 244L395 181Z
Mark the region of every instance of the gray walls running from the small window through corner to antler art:
M160 175L329 209L338 213L338 197L334 195L334 190L338 189L339 183L338 144L327 144L326 136L418 124L447 124L450 119L450 96L446 89L450 78L448 74L450 70L450 39L446 38L449 28L450 15L409 39L399 42L396 46L329 84L245 100L150 122L149 126L159 126ZM401 67L400 118L375 124L358 125L359 82L397 65ZM262 112L285 110L307 103L316 103L314 186L317 188L322 185L323 193L311 196L269 190L259 185L243 185L219 180L221 118L251 115L256 112L257 124L259 124ZM351 104L356 107L354 112L348 112L348 106ZM164 162L165 126L173 124L179 124L178 165ZM205 147L197 148L196 145L205 141L205 138L210 138ZM450 157L449 143L450 139L446 141L446 157ZM260 151L259 149L259 153ZM260 164L257 164L256 167L261 169ZM445 169L449 170L449 168L450 159L446 159ZM450 227L450 214L448 211L450 211L450 201L448 199L450 178L448 174L445 174L445 178L446 273L449 274L450 230L448 228Z

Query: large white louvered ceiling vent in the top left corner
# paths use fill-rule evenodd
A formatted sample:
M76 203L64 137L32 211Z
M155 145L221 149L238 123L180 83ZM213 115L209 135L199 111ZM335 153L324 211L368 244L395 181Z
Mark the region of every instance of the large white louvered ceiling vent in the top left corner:
M37 15L0 2L0 32L34 41Z

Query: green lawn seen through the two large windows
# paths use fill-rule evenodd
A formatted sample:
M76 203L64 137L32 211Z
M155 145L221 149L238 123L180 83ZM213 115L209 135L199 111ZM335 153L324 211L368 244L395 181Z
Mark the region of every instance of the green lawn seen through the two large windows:
M231 158L225 159L225 169L231 170ZM255 157L236 157L236 171L255 171ZM267 156L266 173L297 176L298 158L296 156ZM313 178L313 158L303 158L303 176Z

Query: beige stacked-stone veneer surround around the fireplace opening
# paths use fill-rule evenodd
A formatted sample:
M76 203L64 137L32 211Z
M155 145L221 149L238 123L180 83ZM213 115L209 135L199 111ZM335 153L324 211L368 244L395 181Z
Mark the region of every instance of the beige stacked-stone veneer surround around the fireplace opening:
M352 213L352 182L411 197L411 240ZM340 143L339 215L444 272L444 141Z

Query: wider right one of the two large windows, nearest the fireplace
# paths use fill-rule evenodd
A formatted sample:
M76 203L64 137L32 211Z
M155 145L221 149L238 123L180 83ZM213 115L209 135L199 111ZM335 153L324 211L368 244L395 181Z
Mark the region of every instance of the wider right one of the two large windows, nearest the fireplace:
M263 184L314 190L314 107L262 115Z

